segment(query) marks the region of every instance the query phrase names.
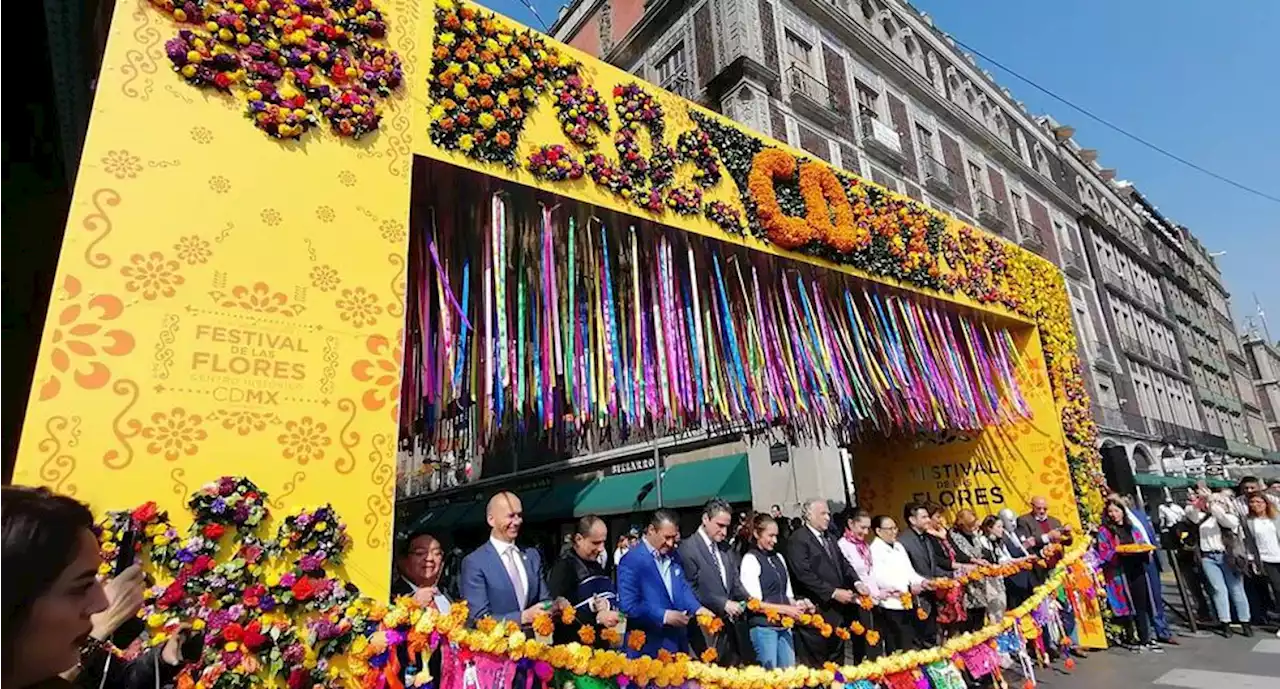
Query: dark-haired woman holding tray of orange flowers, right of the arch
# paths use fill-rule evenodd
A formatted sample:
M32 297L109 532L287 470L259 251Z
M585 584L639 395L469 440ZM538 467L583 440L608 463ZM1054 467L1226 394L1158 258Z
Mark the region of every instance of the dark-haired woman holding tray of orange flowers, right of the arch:
M1129 519L1129 511L1115 499L1108 499L1102 510L1102 528L1098 529L1097 552L1102 562L1107 602L1116 617L1128 619L1137 628L1137 653L1164 649L1151 639L1151 589L1147 587L1147 560L1152 549L1143 549L1146 531Z

